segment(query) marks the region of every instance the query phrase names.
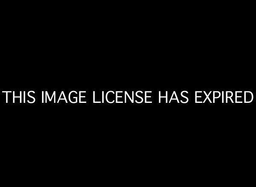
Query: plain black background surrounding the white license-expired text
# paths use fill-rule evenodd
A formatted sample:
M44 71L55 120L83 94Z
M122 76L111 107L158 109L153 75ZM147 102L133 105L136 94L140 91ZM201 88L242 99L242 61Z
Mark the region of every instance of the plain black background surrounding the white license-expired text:
M247 7L42 7L3 13L1 91L152 90L154 104L2 102L5 176L131 184L250 178L255 101L196 105L193 96L255 94ZM157 91L183 90L187 105L157 104Z

